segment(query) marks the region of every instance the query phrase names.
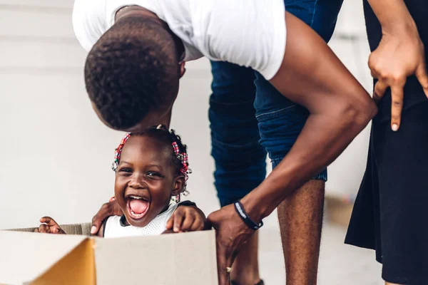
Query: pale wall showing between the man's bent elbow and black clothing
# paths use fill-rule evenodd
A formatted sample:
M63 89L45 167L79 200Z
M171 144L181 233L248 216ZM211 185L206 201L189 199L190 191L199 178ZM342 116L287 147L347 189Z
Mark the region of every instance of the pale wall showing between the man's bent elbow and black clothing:
M372 94L372 78L367 67L370 48L365 32L362 1L345 0L330 47L358 81ZM365 171L370 125L328 168L327 194L353 199Z

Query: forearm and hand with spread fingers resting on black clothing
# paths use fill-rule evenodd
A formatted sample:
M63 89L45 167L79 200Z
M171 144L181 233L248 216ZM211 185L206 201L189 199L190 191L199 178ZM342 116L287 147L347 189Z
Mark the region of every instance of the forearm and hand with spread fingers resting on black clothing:
M369 68L378 81L374 86L374 100L380 100L391 88L391 128L399 129L403 88L408 76L417 76L428 96L428 76L424 44L417 26L403 0L368 0L382 26L382 40L370 54Z

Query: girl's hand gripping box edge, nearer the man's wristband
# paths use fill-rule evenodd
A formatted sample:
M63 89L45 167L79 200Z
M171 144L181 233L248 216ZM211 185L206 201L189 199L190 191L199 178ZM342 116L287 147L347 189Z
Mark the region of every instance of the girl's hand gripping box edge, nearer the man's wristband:
M205 214L192 206L178 206L166 223L166 229L173 232L201 231L205 227Z

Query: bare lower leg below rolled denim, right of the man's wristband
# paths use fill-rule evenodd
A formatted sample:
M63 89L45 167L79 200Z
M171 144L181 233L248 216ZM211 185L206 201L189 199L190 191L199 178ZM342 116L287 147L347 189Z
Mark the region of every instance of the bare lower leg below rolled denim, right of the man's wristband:
M277 207L287 284L317 284L324 186L311 180Z

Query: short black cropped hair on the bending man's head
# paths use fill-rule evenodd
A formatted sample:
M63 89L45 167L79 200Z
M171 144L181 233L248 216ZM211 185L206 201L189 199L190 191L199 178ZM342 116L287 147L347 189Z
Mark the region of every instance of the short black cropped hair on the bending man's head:
M129 16L117 21L89 52L86 90L101 118L111 128L126 130L174 100L179 73L168 28Z

